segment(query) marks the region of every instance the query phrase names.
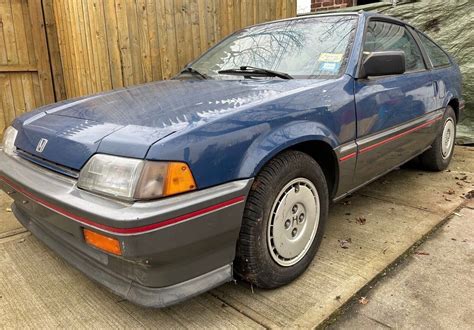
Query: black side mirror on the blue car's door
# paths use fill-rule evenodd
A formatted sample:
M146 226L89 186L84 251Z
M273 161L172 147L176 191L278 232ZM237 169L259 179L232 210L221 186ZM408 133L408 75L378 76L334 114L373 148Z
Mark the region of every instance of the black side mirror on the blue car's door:
M372 52L365 58L359 78L402 74L404 72L405 52L398 50Z

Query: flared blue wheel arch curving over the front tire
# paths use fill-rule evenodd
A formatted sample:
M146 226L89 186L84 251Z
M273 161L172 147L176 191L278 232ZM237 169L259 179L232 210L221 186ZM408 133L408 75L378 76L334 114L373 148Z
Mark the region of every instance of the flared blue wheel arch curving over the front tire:
M239 169L239 177L255 176L261 168L278 153L291 146L308 142L323 141L332 148L339 145L336 135L318 122L295 121L278 129L260 135L249 146Z

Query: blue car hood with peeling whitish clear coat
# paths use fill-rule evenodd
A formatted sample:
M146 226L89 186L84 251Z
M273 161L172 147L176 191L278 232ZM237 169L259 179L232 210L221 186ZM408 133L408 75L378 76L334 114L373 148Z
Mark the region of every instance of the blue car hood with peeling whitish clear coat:
M80 169L94 153L144 158L150 146L322 80L169 80L48 105L17 121L18 148ZM37 148L41 139L46 147Z

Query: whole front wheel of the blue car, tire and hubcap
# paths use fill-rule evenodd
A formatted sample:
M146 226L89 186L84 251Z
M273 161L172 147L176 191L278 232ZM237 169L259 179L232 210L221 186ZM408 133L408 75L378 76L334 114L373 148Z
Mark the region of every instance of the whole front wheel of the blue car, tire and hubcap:
M328 189L318 163L287 151L255 178L237 245L235 271L261 288L291 282L311 263L327 219Z

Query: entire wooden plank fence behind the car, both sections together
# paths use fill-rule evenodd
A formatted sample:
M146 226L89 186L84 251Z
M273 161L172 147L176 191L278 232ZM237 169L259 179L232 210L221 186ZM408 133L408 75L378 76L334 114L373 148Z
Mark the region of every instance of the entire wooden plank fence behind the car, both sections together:
M0 0L0 133L41 104L170 78L229 33L295 15L296 0Z

